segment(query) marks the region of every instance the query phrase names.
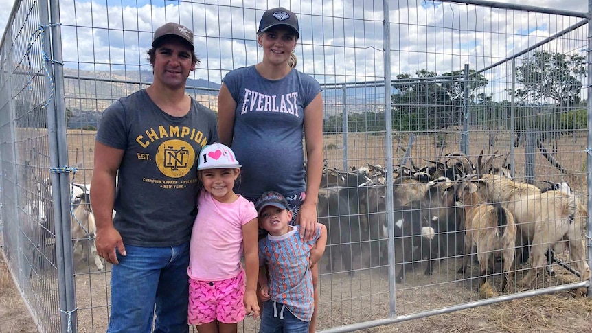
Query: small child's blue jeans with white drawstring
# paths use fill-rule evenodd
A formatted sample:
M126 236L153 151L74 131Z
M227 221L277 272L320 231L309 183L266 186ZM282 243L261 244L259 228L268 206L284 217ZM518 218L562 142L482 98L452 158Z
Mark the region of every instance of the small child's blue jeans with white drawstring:
M266 301L263 303L259 333L308 333L308 324L308 321L296 318L284 304Z

